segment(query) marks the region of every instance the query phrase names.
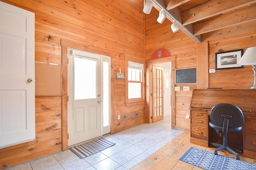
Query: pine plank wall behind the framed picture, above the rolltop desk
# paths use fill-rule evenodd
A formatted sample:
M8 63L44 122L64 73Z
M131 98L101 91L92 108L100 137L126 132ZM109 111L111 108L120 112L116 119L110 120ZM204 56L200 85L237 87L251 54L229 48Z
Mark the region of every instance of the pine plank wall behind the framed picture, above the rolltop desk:
M209 69L215 69L215 53L256 46L256 32L209 41ZM249 88L253 83L252 66L216 70L209 74L210 88Z

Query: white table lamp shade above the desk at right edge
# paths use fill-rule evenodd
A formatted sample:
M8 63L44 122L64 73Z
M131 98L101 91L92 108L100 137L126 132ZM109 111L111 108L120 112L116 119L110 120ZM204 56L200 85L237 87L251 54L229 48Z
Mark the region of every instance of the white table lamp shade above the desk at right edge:
M256 63L256 47L249 47L241 59L238 61L238 65L254 65Z

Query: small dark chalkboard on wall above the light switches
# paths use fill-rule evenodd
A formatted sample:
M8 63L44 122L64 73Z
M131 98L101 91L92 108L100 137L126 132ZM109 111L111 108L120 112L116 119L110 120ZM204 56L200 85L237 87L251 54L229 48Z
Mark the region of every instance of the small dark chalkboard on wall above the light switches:
M176 84L196 83L196 68L176 70Z

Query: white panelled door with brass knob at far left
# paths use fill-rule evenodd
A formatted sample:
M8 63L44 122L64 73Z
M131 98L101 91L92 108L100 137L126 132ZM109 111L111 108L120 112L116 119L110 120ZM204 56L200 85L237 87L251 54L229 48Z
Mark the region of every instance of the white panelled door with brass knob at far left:
M0 148L35 139L34 21L0 2Z

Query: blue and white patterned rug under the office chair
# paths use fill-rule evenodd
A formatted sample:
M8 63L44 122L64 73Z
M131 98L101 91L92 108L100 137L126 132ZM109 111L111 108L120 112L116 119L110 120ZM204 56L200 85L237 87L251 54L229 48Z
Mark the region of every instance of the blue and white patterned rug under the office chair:
M255 164L215 155L194 147L191 147L180 160L205 170L256 170Z

